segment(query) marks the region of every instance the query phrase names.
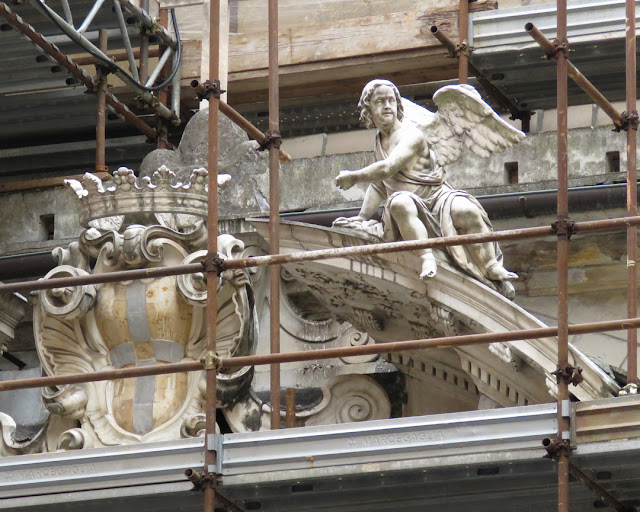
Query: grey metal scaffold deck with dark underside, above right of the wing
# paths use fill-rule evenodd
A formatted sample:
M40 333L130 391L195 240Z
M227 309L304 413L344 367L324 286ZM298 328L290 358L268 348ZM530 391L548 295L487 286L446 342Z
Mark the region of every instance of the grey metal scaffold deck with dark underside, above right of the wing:
M624 99L624 1L573 0L567 8L571 61L609 101ZM527 22L553 39L555 3L472 13L471 61L521 109L555 108L556 67L525 32ZM592 103L571 80L569 102Z

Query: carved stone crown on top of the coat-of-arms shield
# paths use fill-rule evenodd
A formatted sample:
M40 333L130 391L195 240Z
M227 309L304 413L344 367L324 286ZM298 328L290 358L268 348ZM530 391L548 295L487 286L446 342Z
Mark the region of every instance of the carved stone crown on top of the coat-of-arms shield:
M230 179L228 174L218 175L218 186ZM207 217L209 187L208 172L204 168L195 169L185 184L163 165L151 178L137 178L131 169L120 167L113 173L113 185L107 187L91 173L85 173L82 183L65 180L65 185L78 199L78 215L84 227L99 219L141 213Z

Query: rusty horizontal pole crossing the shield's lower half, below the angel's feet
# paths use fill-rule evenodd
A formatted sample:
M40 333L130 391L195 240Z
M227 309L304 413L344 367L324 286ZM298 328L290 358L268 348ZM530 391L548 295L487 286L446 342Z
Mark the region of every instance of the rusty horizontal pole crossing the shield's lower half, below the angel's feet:
M626 318L623 320L608 320L605 322L591 322L570 325L569 334L589 334L596 332L622 331L627 329L637 329L639 327L640 318ZM224 369L239 368L243 366L259 366L274 363L294 363L301 361L315 361L318 359L334 359L351 356L389 354L392 352L404 352L406 350L461 347L469 345L484 345L489 343L504 343L507 341L532 340L539 338L549 338L552 336L556 336L557 334L557 327L541 327L538 329L523 329L519 331L464 334L461 336L445 336L442 338L394 341L390 343L361 345L355 347L324 348L316 350L304 350L301 352L282 352L279 354L228 357L218 359L216 365L219 369ZM170 373L193 372L203 370L203 364L204 363L201 361L188 361L182 363L156 364L153 366L120 368L118 370L104 370L93 373L76 373L69 375L56 375L53 377L35 377L32 379L9 380L0 382L0 391L62 386L67 384L82 384L86 382L146 377L150 375L166 375Z

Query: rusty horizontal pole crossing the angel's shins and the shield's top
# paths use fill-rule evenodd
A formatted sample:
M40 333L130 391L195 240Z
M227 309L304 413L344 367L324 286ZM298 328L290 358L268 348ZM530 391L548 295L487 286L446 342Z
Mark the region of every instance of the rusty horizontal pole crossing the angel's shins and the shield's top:
M574 232L589 233L597 231L623 230L631 226L640 225L640 216L620 217L617 219L593 220L576 222ZM524 240L554 235L551 226L534 228L508 229L491 231L489 233L474 233L470 235L456 235L449 237L431 238L429 240L409 240L403 242L387 242L380 244L357 245L353 247L339 247L335 249L321 249L317 251L300 251L289 254L273 254L267 256L252 256L250 258L228 259L219 262L218 272L232 269L251 267L265 267L269 265L283 265L300 261L330 260L349 256L370 256L402 251L414 251L428 248L444 248L454 245L470 245L484 242L501 242L505 240ZM50 290L67 286L81 286L85 284L113 283L131 279L147 279L171 275L195 274L206 271L206 263L190 263L188 265L173 265L135 270L121 270L103 274L86 276L59 277L54 279L40 279L17 283L0 284L0 293L4 292L32 292L36 290Z

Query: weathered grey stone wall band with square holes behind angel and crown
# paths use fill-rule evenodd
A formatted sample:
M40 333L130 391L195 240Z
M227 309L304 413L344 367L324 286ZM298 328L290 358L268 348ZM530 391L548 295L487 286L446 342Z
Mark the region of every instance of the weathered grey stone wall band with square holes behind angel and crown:
M206 133L202 126L200 128L201 130L191 131L195 134ZM243 135L234 132L234 136L229 137L228 141L225 138L223 140L228 145L236 143L242 137ZM327 140L323 142L324 138ZM463 158L448 168L448 181L453 186L470 190L476 195L554 188L555 145L555 132L529 134L517 148L489 159L478 160L472 156ZM347 153L350 146L357 151ZM328 137L318 135L286 141L283 147L294 157L306 157L294 158L291 163L282 165L281 209L292 211L359 206L366 185L341 191L335 187L334 179L341 169L358 169L371 163L373 154L365 150L369 146L373 146L371 131L332 134ZM570 130L569 147L571 185L589 185L619 179L620 175L610 172L608 153L618 152L620 169L626 167L624 134L612 132L609 126ZM185 145L183 151L193 156L193 165L196 167L204 164L202 151L198 148L199 146L190 143ZM222 153L223 159L226 155ZM175 158L168 152L164 156L156 156L145 161L142 166L144 174L151 174L154 166L157 168L161 163L167 163L172 168L176 164ZM229 155L229 158L232 156ZM480 168L478 162L481 162ZM505 163L509 162L518 164L517 185L506 185ZM186 163L180 161L176 165L180 167L176 170L183 170ZM268 164L264 156L251 156L249 153L247 158L229 165L222 172L229 172L233 179L221 194L221 218L242 218L267 211L269 179ZM54 216L53 241L47 240L43 224L43 219L46 220L48 215ZM0 255L52 248L71 241L81 230L75 203L69 192L61 188L3 194L0 218Z

